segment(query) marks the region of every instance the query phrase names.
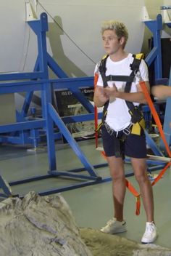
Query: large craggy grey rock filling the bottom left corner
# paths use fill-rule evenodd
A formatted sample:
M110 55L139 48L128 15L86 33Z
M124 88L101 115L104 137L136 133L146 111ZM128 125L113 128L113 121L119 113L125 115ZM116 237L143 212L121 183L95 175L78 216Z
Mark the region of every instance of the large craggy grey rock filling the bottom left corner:
M92 256L59 194L0 203L0 256Z

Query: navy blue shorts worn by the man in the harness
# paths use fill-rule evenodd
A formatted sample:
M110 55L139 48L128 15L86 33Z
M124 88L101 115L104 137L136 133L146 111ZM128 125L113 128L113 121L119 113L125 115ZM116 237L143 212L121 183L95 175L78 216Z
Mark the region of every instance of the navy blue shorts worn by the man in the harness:
M101 137L106 156L115 156L114 135L109 135L104 125L101 127ZM123 151L125 156L135 159L146 158L146 136L144 132L141 136L132 134L126 136Z

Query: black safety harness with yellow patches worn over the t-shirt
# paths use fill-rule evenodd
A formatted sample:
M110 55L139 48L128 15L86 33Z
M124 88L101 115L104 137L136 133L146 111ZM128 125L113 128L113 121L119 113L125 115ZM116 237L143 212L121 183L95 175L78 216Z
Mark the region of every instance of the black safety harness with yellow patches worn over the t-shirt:
M141 63L141 58L137 58L136 55L133 55L133 58L134 58L133 63L130 64L130 69L131 69L130 76L112 76L112 75L106 76L107 57L109 57L109 55L104 57L101 60L100 64L99 64L99 73L101 74L101 78L103 80L104 87L108 86L108 84L107 84L108 81L125 81L126 82L125 92L130 92L131 84L133 83L135 75L139 70L139 66L140 66L140 63ZM131 124L128 127L126 127L125 129L123 129L120 132L116 132L116 131L114 131L114 129L109 127L109 125L106 123L105 119L106 119L106 116L107 116L107 108L108 108L108 105L109 105L109 100L108 100L104 104L102 121L101 121L101 124L99 125L99 128L98 128L98 129L100 129L102 127L102 125L104 125L106 127L107 132L109 133L109 135L114 136L114 139L115 139L115 143L114 143L114 145L115 145L115 156L116 157L122 157L123 159L125 157L124 156L124 151L123 151L123 146L124 146L124 143L125 143L126 136L128 136L128 135L130 135L130 133L132 133L131 131L134 127L134 124L135 124L135 127L136 127L136 125L138 125L138 127L142 127L141 122L144 123L143 113L141 111L141 105L135 106L132 102L130 102L128 100L125 100L125 103L128 106L129 113L130 113L130 116L131 116ZM141 132L138 132L138 133L139 133L138 135L141 134Z

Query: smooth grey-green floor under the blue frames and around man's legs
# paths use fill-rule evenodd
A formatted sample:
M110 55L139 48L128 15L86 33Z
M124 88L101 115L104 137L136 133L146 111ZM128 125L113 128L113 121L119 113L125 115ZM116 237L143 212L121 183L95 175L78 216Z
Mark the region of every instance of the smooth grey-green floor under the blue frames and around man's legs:
M105 163L105 160L101 157L99 151L95 150L94 140L84 140L78 144L91 164ZM75 153L67 144L57 144L56 152L58 170L65 171L82 167L80 160L75 156ZM46 175L49 169L46 146L34 151L29 150L29 148L24 146L1 145L0 159L0 173L8 182L33 177L35 175ZM126 172L132 170L130 164L126 164L125 167ZM96 169L96 172L101 177L109 177L108 167ZM128 179L138 190L135 178L129 177ZM12 193L18 193L20 196L24 196L29 191L47 191L51 188L60 188L66 185L74 185L75 183L78 183L78 181L73 179L62 179L60 177L49 178L32 183L14 185L12 186ZM155 244L169 248L171 248L170 184L171 173L170 169L168 169L159 183L154 185L155 221L159 231L159 238ZM62 196L64 196L64 199L70 205L76 223L80 227L99 229L112 217L113 206L110 181L75 190L64 191L62 192ZM129 191L127 191L125 198L125 220L127 221L128 231L120 234L120 236L140 242L145 229L146 217L142 203L141 215L135 215L135 198Z

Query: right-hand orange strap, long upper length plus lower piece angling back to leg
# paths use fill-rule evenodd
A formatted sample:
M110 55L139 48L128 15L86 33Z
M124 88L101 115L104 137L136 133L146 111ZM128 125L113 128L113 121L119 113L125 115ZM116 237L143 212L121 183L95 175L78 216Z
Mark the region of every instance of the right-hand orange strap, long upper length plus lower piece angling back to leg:
M161 122L160 122L160 120L159 120L159 116L158 116L158 114L157 114L156 108L154 108L154 104L153 104L153 102L152 102L152 100L151 100L151 97L150 97L150 95L149 95L148 89L146 88L146 83L145 83L144 81L141 81L141 82L140 82L140 85L141 85L141 88L142 88L142 90L143 90L143 93L144 93L144 95L145 95L145 97L146 97L146 101L147 101L147 103L149 104L149 108L150 108L150 110L151 110L152 116L154 117L154 121L156 122L157 127L158 127L158 129L159 129L159 134L160 134L160 136L162 137L162 140L163 140L163 143L164 143L165 148L166 148L166 150L167 150L167 153L168 153L168 155L171 157L170 147L169 147L169 145L167 144L167 140L166 140L166 138L165 138L165 136L164 136L164 132L163 132L163 130L162 130L162 124L161 124ZM171 163L168 163L168 164L165 165L164 169L162 169L162 171L159 172L159 175L157 175L157 177L156 177L155 180L151 183L151 185L156 184L156 183L161 179L162 175L164 175L164 172L166 172L167 168L170 167L170 165L171 165Z

